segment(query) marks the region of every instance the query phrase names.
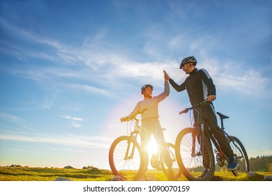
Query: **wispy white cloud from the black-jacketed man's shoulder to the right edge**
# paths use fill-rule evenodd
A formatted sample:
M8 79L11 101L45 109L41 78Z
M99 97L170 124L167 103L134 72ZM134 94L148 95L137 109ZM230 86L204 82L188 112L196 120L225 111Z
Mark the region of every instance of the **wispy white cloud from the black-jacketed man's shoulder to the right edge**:
M239 62L220 63L218 59L204 59L201 68L209 71L218 91L229 91L251 98L271 98L271 78L264 77L257 70L244 68Z

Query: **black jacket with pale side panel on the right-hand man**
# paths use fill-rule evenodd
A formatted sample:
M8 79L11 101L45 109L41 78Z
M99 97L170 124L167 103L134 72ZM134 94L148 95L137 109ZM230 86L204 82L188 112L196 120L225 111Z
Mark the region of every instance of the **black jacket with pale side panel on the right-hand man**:
M169 79L169 83L176 91L187 90L192 106L205 100L208 95L216 95L216 86L205 69L195 68L181 85L173 79Z

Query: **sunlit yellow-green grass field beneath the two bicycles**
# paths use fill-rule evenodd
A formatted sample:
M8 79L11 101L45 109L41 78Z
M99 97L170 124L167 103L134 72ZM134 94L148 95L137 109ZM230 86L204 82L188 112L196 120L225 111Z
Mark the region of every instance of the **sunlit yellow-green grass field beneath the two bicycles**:
M235 177L231 172L216 172L214 180L223 181L262 181L264 176L271 176L269 172L257 172L255 176ZM163 171L149 170L146 176L158 181L166 181ZM1 181L54 181L56 178L68 178L73 181L109 181L114 177L110 170L94 169L59 169L59 168L31 168L31 167L0 167ZM186 180L183 175L179 180Z

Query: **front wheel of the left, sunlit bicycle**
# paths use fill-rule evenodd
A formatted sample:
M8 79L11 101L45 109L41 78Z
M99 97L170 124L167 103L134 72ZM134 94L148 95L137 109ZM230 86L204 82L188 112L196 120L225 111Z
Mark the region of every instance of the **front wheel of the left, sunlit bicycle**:
M128 146L130 155L133 148L135 151L133 158L125 159ZM139 180L143 171L143 157L139 143L129 136L115 139L109 148L109 166L114 176L121 176L125 180Z

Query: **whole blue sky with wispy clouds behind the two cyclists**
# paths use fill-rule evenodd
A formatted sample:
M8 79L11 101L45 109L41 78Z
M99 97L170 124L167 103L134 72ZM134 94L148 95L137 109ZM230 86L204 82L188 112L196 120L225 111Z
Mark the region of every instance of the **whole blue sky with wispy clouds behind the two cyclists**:
M272 155L272 1L0 2L0 166L109 169L119 118L181 84L186 56L209 71L216 111L248 155ZM186 91L159 105L165 139L190 126ZM220 123L219 123L220 124Z

